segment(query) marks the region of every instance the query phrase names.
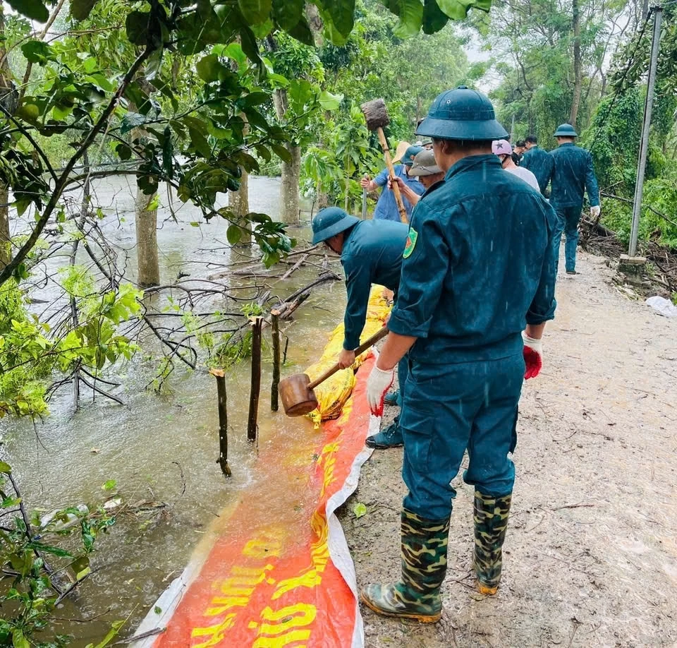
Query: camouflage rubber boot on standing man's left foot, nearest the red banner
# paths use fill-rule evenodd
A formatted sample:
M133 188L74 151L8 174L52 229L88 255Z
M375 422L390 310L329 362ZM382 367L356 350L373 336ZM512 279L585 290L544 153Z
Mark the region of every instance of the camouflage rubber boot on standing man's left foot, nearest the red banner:
M362 602L374 612L434 623L442 616L439 589L446 575L449 518L425 520L402 510L402 577L367 585Z

